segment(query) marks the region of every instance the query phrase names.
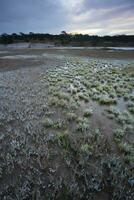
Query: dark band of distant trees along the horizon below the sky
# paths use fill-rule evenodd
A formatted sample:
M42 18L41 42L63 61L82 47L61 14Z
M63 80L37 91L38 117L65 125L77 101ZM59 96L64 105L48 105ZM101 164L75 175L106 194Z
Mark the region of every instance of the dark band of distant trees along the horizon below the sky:
M3 33L0 35L0 44L18 42L50 43L55 46L130 46L134 47L134 35L97 36L83 34L67 34L62 31L59 35L48 33Z

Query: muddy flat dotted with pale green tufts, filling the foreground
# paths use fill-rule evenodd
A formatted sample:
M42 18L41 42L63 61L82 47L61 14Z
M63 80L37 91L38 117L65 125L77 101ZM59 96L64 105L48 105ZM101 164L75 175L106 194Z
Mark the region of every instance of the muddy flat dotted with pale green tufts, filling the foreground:
M132 199L133 58L0 51L0 199Z

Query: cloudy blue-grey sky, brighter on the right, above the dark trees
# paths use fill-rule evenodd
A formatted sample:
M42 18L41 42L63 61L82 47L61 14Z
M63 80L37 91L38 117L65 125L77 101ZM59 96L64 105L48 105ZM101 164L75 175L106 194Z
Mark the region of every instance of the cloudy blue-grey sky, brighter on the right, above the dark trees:
M0 0L0 33L134 34L134 0Z

